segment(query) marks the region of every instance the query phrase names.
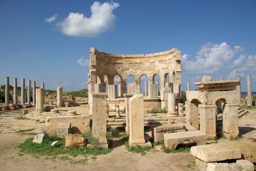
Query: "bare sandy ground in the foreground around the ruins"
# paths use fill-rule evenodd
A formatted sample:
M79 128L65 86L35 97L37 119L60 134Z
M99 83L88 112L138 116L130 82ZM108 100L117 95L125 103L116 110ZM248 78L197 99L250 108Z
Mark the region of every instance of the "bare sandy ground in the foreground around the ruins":
M81 109L74 107L73 109ZM87 106L84 107L84 109ZM63 108L63 110L65 110ZM70 110L70 108L68 108ZM45 157L33 158L29 154L19 156L20 149L15 148L31 135L20 135L14 133L18 130L27 130L41 133L45 129L45 123L38 123L34 120L18 120L15 116L20 111L0 113L0 170L195 170L188 168L186 165L195 160L190 153L164 153L160 146L147 152L145 156L128 152L125 149L122 139L114 139L113 151L96 156L97 159L91 159L88 156L86 164L71 164L69 161L56 159L56 161L47 160ZM239 142L252 142L253 133L256 133L256 110L250 110L250 113L239 119L239 131L244 138ZM150 132L147 132L150 135ZM230 144L234 141L220 139L218 143ZM72 157L70 157L72 158ZM74 160L83 159L77 156Z

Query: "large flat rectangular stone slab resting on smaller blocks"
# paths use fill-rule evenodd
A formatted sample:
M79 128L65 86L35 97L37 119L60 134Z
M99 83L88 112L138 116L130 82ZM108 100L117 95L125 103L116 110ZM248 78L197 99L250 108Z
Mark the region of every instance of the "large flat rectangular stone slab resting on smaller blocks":
M226 144L208 144L193 146L190 153L205 162L240 159L241 150Z

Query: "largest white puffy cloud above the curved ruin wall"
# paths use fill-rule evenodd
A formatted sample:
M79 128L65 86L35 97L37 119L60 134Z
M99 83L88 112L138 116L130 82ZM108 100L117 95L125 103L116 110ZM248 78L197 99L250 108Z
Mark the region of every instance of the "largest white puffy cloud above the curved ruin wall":
M95 1L91 6L90 18L85 17L83 13L70 12L68 17L58 23L58 26L62 33L69 36L95 37L114 28L116 15L112 12L118 7L118 3L100 4Z

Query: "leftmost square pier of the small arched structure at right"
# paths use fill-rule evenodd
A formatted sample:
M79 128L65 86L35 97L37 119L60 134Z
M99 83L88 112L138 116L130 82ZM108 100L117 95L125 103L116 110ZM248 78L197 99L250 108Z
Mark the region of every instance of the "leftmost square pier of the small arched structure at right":
M190 124L197 130L199 129L198 105L197 102L186 101L186 123Z

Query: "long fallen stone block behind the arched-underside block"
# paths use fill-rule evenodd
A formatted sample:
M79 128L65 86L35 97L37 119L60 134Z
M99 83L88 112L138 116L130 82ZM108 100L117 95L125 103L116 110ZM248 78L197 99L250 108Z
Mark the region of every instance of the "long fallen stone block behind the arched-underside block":
M161 125L155 128L151 127L152 138L155 142L164 141L164 134L172 132L184 132L185 126L183 123L176 123L171 125Z

